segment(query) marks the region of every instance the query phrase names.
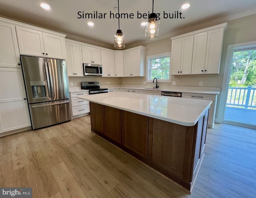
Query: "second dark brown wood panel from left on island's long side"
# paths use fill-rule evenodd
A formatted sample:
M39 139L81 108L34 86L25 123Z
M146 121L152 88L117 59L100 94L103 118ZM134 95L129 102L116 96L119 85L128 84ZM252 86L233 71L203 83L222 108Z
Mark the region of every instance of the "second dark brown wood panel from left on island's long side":
M122 144L121 110L105 106L105 135Z

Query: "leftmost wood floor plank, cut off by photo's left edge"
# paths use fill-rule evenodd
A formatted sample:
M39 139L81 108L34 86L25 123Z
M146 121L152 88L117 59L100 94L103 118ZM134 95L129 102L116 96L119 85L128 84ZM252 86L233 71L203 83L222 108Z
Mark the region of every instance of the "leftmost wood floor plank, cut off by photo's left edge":
M12 187L12 138L0 137L0 186Z

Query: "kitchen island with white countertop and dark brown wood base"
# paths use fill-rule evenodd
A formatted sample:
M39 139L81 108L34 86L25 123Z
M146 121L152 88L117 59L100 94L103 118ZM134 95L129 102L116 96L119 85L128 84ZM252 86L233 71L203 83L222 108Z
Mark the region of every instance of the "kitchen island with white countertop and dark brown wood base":
M79 98L90 101L93 132L192 190L212 101L126 92Z

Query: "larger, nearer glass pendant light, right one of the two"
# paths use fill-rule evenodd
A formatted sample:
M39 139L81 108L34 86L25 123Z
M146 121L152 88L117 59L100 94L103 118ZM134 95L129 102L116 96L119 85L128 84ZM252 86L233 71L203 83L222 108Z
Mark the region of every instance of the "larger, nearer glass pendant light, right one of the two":
M157 39L159 37L159 25L160 25L160 19L158 20L156 13L154 13L154 0L153 0L152 13L149 15L148 21L146 24L145 35L147 39Z

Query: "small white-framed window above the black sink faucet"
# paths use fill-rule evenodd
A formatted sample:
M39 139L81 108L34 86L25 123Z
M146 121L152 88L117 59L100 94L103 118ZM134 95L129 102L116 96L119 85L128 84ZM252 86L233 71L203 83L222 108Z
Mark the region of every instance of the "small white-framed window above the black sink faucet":
M157 78L159 81L170 81L170 53L147 57L148 76L151 81Z

